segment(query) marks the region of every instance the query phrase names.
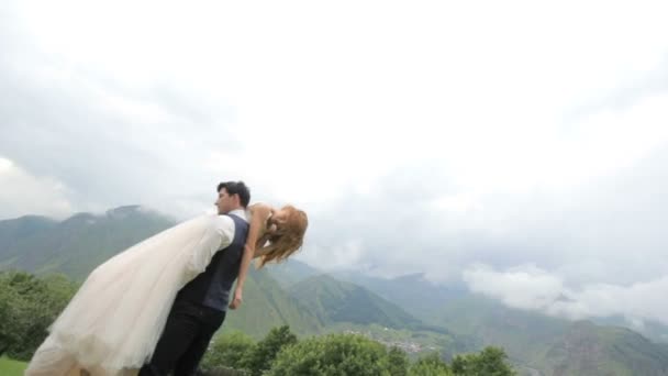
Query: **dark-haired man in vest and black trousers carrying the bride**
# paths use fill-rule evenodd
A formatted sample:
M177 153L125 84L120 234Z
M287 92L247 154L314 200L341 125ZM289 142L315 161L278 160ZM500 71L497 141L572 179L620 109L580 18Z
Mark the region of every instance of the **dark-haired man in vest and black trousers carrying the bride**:
M219 251L207 269L177 294L153 357L140 376L193 375L213 333L225 320L248 234L245 209L250 192L243 181L227 181L218 186L218 193L219 217L202 240Z

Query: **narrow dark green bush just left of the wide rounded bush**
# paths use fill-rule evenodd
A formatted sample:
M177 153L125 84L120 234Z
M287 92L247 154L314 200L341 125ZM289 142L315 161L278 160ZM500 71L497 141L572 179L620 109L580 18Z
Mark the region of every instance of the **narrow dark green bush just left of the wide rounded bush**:
M290 332L290 327L282 325L274 328L269 331L264 340L259 341L253 349L246 367L250 369L250 374L259 376L271 367L271 363L276 355L286 346L297 343L297 335Z

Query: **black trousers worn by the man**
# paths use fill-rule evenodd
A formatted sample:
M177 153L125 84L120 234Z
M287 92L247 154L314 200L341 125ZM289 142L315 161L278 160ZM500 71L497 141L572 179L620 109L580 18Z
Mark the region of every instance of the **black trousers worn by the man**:
M213 333L225 320L225 312L186 301L176 301L151 363L140 376L190 376L197 371Z

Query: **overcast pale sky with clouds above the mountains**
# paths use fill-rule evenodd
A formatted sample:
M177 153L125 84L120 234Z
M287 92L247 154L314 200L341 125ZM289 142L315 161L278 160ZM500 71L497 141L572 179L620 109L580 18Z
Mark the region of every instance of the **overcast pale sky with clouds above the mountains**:
M243 179L313 266L668 322L665 7L3 1L0 219Z

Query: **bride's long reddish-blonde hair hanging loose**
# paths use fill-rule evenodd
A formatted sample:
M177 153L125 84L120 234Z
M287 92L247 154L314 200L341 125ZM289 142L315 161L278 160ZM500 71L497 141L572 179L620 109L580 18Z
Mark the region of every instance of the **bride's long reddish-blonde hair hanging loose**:
M303 244L304 234L309 226L309 219L303 210L293 206L285 206L282 210L288 211L286 223L277 225L276 232L269 235L269 252L259 257L257 267L267 263L280 263L297 252Z

